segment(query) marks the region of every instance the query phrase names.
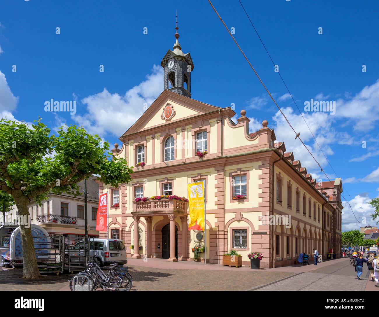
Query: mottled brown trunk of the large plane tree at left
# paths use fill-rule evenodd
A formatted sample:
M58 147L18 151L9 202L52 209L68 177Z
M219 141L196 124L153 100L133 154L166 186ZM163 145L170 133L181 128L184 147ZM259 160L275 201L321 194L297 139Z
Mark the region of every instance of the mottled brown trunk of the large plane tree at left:
M36 251L34 250L33 237L31 234L31 223L30 214L28 212L28 199L26 197L21 197L15 199L16 206L19 212L19 216L27 215L29 216L28 221L21 225L20 224L20 234L21 234L21 246L22 246L22 257L23 257L23 273L22 278L25 279L37 279L40 278ZM25 218L24 218L25 219ZM25 227L29 227L26 228Z

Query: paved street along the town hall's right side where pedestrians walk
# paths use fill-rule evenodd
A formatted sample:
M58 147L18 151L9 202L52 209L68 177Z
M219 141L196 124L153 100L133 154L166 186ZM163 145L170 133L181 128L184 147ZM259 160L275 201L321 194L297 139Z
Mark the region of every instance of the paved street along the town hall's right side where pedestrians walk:
M358 280L354 267L345 259L257 290L379 290L375 282L368 281L369 275L364 264L362 280Z

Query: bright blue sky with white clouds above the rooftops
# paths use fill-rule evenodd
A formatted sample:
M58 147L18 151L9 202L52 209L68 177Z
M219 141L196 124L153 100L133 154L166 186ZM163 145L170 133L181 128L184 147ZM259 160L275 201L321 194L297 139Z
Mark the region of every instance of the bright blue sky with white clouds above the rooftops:
M241 0L359 221L379 188L379 46L375 1ZM317 146L237 0L213 5L291 124L317 158ZM247 111L251 130L267 119L316 179L327 180L288 129L208 1L10 1L0 10L0 112L53 130L82 124L117 142L163 90L160 61L175 42L190 52L194 99ZM56 34L60 27L60 34ZM143 34L147 27L147 34ZM318 34L318 28L323 34ZM17 72L12 72L16 65ZM104 72L99 72L99 66ZM366 65L366 72L362 72ZM336 113L304 112L304 102L336 101ZM44 102L77 100L77 113L49 113ZM366 141L366 148L362 148ZM323 156L320 164L336 177ZM366 192L366 193L365 193ZM360 194L360 195L354 195ZM349 196L351 195L351 196ZM343 229L358 228L345 206Z

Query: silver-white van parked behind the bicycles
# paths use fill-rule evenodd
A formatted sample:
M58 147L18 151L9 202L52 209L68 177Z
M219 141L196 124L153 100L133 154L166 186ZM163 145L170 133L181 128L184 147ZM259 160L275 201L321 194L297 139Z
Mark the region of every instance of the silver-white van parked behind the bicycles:
M71 250L83 249L84 240L81 240L73 246L70 246L70 254L73 254ZM121 265L128 263L128 260L126 259L125 245L120 239L89 239L89 257L91 259L94 257L99 266L108 265L111 263ZM75 257L73 257L71 261L75 261L74 259Z

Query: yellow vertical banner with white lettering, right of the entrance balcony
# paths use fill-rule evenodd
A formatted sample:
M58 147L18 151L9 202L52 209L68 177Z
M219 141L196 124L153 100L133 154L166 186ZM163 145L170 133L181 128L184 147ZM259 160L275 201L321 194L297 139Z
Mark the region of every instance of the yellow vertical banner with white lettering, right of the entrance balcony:
M203 181L187 184L189 204L188 230L204 231L204 189Z

